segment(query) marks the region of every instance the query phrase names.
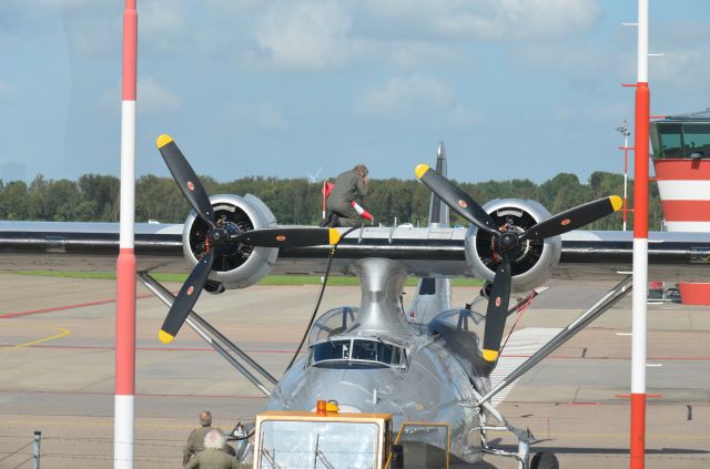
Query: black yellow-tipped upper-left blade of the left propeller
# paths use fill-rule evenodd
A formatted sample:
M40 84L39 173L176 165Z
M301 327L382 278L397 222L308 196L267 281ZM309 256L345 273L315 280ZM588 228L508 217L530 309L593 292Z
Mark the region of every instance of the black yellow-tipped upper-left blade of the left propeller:
M210 197L204 190L204 186L197 179L197 175L192 170L185 156L173 141L170 135L161 135L156 142L160 154L165 160L168 169L173 175L173 179L178 183L178 186L182 191L190 205L195 210L195 213L200 215L204 223L214 228L214 212L212 211L212 204Z

